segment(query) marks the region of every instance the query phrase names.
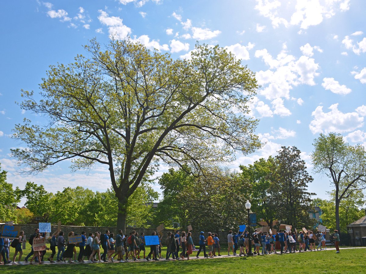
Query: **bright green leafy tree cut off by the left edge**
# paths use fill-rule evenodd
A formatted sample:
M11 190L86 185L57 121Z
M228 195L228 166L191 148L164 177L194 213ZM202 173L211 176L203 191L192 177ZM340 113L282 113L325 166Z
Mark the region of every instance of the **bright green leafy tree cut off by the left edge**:
M13 189L11 183L6 182L5 170L1 171L0 164L0 222L16 222L16 204L20 201L19 189Z

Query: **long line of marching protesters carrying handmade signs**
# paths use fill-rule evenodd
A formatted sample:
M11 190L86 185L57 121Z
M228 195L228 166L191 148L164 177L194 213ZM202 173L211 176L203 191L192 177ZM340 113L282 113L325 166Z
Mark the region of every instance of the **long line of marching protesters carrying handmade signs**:
M336 253L339 253L339 234L337 230L334 232ZM254 255L326 250L325 234L325 231L317 231L316 233L313 233L313 231L306 233L300 231L300 233L295 233L279 230L273 234L262 231L258 232L257 229L255 229L254 233L249 233L248 231L238 233L229 231L227 236L227 255L236 256L238 255L238 250L239 256L248 254L251 252L249 250L249 243L251 243L251 246L254 248ZM77 234L74 234L72 231L68 233L69 237L74 235ZM150 252L147 255L145 250L144 233L138 235L136 231L132 231L129 233L129 235L124 235L122 230L119 230L118 234L114 235L107 230L105 233L96 231L94 233L89 233L89 235L86 235L86 232L82 231L80 235L82 239L80 243L66 244L63 231L56 231L53 233L53 235L49 237L49 248L52 251L52 254L46 258L46 260L48 260L50 263L85 263L86 260L88 263L102 263L108 261L114 262L115 260L123 263L128 262L130 258L134 261L141 259L145 259L147 261L160 260L163 259L161 256L163 242L167 247L165 260L170 260L170 257L176 260L190 260L190 255L193 254L193 251L197 251L195 244L193 243L191 232L186 233L184 231L182 233L179 231L176 231L175 233L168 232L165 239L163 239L163 234L158 235L159 244L150 245ZM157 233L154 231L152 236L156 235ZM220 240L218 235L211 232L208 232L207 235L208 236L206 238L205 232L200 232L198 243L199 249L197 251L196 257L199 258L201 251L203 251L203 256L205 258L208 258L209 256L210 258L221 256ZM34 234L28 239L28 242L32 245L33 239L42 239L44 237L45 233L40 233L39 229L36 228L34 229ZM26 241L24 239L24 231L20 232L19 239L0 239L1 264L23 264L22 243ZM315 241L318 243L317 246ZM208 253L206 252L206 245L208 246ZM10 247L15 248L12 261L9 258ZM56 255L56 247L57 256L55 261L54 257ZM79 248L78 256L76 247ZM261 247L262 250L260 251ZM221 250L221 253L222 252L223 251ZM46 250L33 251L32 247L31 252L24 258L24 262L29 262L30 265L33 263L42 264L44 263L45 254ZM17 256L18 260L16 260ZM1 258L3 259L4 263L1 262Z

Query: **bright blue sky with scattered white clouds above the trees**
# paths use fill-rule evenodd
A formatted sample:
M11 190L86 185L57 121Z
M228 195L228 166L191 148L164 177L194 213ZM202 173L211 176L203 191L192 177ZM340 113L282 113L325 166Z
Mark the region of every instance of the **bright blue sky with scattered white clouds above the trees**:
M262 87L250 109L265 145L238 154L231 168L276 155L282 145L297 146L314 177L309 190L327 198L329 179L311 170L314 138L338 132L366 146L366 1L14 0L1 6L0 163L14 186L33 181L52 192L110 186L101 165L71 173L61 163L35 176L16 175L10 148L23 144L9 136L23 118L42 123L15 104L20 90L38 92L49 65L72 62L89 39L107 43L111 33L173 58L188 58L196 41L219 44L257 73ZM156 176L164 171L161 166Z

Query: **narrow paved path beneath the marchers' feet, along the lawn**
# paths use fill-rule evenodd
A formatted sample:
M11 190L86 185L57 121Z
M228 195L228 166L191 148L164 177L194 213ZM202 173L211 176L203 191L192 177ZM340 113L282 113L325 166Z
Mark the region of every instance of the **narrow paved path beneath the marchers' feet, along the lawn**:
M345 250L345 249L356 249L356 248L366 248L366 247L340 247L340 253L342 253L342 250ZM335 251L336 249L335 248L327 248L326 250L322 250L322 251L315 251L315 252L323 252L323 251ZM299 253L307 253L307 252L314 252L314 251L306 251L306 252L295 252L295 253L292 253L292 254L299 254ZM287 252L287 253L284 253L283 255L287 255L287 254L290 254L289 252ZM280 252L277 252L277 254L275 254L275 253L272 253L272 254L269 254L269 255L281 255L280 254ZM256 257L256 256L261 256L261 255L254 255L254 257ZM245 257L245 256L242 256L242 257ZM192 254L191 255L191 259L192 260L202 260L202 259L222 259L222 258L240 258L240 256L239 255L236 255L236 256L233 256L233 255L231 255L231 256L228 256L228 255L222 255L222 256L216 256L216 257L213 257L213 258L205 258L205 257L203 257L203 256L200 256L199 258L196 258L196 256L194 255L194 254ZM180 259L180 260L182 260L182 259ZM187 260L187 259L185 259L185 260ZM160 259L160 260L158 260L158 261L154 261L154 260L150 260L149 261L149 263L154 263L154 262L172 262L172 261L176 261L176 260L174 260L174 259L170 259L170 260L165 260L165 258L164 259ZM124 263L141 263L141 262L147 262L146 261L146 259L139 259L139 260L137 260L137 261L133 261L132 259L129 259L128 260L128 262L124 262ZM38 263L36 263L36 262L33 262L34 263L34 265L38 265ZM85 263L84 264L87 264L88 262L87 261L85 261ZM107 263L112 263L112 262L107 262ZM119 261L118 260L115 260L114 261L114 263L119 263ZM64 262L55 262L55 263L50 263L49 261L45 261L44 262L44 265L70 265L70 263L68 263L67 261L66 261L66 263L64 263ZM82 265L83 263L79 263L79 262L75 262L75 265L76 264L78 264L78 265ZM23 266L26 266L26 265L29 265L29 262L28 263L26 263L26 262L24 262L23 261ZM74 265L74 264L72 264L72 265ZM1 265L1 266L4 266L4 265ZM5 265L5 267L7 267L7 266L12 266L12 264L10 263L10 264L7 264L7 265Z

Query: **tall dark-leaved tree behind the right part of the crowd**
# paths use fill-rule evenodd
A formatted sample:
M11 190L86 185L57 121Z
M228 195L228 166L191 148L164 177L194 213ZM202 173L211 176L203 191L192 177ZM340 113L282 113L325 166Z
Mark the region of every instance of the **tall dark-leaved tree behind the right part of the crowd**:
M294 227L310 227L313 225L308 213L310 196L315 193L306 190L313 178L306 171L300 153L295 146L281 147L273 165L271 180L274 185L270 189L270 196L277 204L275 210L279 220Z

